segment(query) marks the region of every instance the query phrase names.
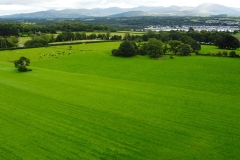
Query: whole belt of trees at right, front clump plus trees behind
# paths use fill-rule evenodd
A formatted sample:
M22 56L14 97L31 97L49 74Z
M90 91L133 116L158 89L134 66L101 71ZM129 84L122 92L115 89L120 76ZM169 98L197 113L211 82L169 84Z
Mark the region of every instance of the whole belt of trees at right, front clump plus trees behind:
M220 49L231 50L229 56L237 57L238 55L233 50L240 47L239 40L229 33L207 31L199 32L194 31L192 28L190 28L188 32L154 32L149 30L142 36L134 36L126 33L124 40L125 41L118 49L112 50L112 54L114 56L129 57L139 54L148 55L152 58L158 58L166 53L188 56L191 55L192 52L198 54L199 50L201 50L201 44L204 43L214 44ZM218 55L227 56L227 52L218 53Z

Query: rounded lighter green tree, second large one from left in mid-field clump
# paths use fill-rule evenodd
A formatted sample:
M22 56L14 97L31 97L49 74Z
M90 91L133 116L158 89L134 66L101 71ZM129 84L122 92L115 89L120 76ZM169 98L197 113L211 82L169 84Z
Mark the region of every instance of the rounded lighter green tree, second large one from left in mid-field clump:
M158 58L164 53L162 41L155 38L150 38L148 43L144 45L144 49L151 58Z

